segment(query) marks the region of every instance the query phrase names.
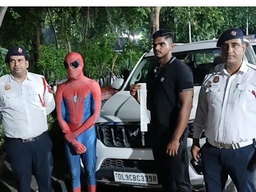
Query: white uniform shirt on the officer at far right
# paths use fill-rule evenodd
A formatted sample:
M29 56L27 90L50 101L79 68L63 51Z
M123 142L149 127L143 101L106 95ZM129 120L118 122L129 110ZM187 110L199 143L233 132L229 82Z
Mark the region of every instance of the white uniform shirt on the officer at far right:
M215 66L205 76L193 122L193 138L232 144L256 138L256 66L242 62L230 75Z

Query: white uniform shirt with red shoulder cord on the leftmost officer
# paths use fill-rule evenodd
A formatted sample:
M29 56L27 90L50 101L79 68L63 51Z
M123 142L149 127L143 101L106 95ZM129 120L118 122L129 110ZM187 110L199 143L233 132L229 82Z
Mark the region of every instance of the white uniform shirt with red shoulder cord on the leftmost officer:
M11 74L0 77L0 115L7 137L26 139L40 135L48 128L46 114L55 108L47 83L44 91L43 76L26 73L22 83Z

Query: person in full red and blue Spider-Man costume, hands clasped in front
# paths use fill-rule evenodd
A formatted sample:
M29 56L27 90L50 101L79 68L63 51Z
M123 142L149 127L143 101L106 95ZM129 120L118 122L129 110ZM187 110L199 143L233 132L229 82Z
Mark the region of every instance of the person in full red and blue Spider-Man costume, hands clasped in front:
M72 191L80 192L80 158L84 165L87 191L96 191L96 122L101 106L99 84L82 73L83 60L79 53L65 56L68 80L56 91L57 119L65 136L65 149L72 176Z

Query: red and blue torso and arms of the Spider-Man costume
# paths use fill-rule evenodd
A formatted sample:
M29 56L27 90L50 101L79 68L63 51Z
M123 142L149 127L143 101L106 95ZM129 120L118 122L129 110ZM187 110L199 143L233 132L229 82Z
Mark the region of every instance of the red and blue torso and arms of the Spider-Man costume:
M61 111L62 117L59 124L64 133L72 132L66 138L70 142L96 122L101 105L100 87L96 81L85 77L79 83L64 83L57 93L60 91L62 98L56 96L59 103L56 107L59 107L57 110Z

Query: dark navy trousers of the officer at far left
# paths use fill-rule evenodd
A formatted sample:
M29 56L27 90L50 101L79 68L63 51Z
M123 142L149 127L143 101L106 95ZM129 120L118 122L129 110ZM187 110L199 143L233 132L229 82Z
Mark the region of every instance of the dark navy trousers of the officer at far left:
M5 137L5 150L17 182L18 192L30 191L31 174L35 176L40 192L51 192L51 146L47 132L32 142Z

